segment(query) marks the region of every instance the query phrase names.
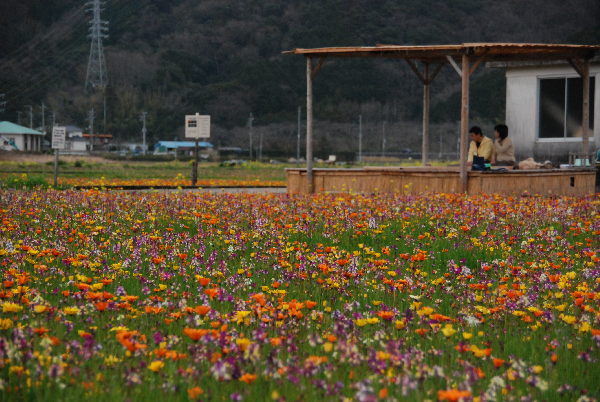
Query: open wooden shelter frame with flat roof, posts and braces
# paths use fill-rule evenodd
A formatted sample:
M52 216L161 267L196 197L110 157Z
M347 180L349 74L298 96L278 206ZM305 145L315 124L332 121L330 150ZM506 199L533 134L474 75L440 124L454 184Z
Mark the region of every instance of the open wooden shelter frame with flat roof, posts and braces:
M445 64L450 64L462 79L460 190L468 191L467 152L469 123L469 77L482 62L559 61L566 60L583 79L582 154L588 150L590 59L600 53L600 46L518 43L463 43L461 45L331 47L295 49L284 52L306 58L306 174L307 192L314 192L312 167L313 80L328 58L404 59L423 83L423 152L427 165L429 148L429 85ZM313 65L313 59L317 59ZM422 64L419 69L419 64Z

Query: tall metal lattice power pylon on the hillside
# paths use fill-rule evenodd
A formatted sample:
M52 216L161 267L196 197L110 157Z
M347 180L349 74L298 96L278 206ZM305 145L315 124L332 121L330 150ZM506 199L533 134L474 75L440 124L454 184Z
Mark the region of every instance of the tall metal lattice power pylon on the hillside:
M86 5L90 8L86 11L92 11L94 16L89 22L90 35L92 38L92 46L90 48L90 58L88 62L88 71L85 77L85 90L91 88L106 87L108 84L108 74L106 71L106 61L104 59L104 49L102 47L102 39L108 38L108 21L100 19L100 12L104 2L100 0L91 0Z

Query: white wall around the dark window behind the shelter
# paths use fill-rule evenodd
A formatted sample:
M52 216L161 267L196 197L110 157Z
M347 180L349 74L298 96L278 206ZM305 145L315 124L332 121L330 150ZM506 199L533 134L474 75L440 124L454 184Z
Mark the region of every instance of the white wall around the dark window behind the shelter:
M600 147L600 65L590 66L590 75L596 79L589 152L595 153ZM539 80L559 77L577 78L579 75L569 65L506 70L506 125L515 146L517 161L532 157L536 161L564 163L568 160L569 152L581 152L581 138L538 138Z

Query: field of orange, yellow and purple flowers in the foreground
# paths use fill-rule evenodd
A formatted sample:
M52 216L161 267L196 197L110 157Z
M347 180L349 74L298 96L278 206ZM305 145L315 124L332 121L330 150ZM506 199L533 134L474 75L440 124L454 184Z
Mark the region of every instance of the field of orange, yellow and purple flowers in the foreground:
M591 401L595 198L0 191L0 399Z

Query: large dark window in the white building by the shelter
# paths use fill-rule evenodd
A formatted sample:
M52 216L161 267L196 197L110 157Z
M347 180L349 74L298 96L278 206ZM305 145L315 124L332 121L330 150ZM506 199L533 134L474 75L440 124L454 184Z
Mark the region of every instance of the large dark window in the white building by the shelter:
M593 137L595 77L590 77L589 131ZM582 136L583 79L549 78L540 80L539 138L577 138Z

